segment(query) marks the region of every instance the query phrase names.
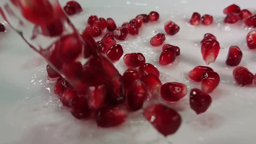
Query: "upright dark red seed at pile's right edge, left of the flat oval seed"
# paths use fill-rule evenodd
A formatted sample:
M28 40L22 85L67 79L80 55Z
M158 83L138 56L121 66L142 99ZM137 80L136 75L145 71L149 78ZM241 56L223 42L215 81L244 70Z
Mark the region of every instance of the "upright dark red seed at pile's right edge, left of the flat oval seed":
M141 109L147 96L148 92L144 82L140 80L133 82L127 94L128 106L131 111Z

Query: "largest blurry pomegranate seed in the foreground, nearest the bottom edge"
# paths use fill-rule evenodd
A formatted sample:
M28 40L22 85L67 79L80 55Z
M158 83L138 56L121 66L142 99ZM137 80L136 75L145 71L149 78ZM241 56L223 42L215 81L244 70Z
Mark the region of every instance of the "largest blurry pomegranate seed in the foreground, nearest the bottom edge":
M143 115L165 137L174 134L181 126L181 116L162 104L148 106Z

